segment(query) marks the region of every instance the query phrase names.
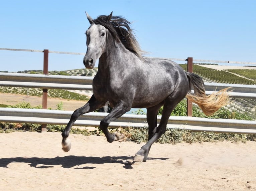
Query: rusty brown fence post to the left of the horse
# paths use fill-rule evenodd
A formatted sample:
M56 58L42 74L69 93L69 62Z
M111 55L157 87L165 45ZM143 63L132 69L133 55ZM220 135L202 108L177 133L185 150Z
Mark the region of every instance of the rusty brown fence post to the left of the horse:
M48 55L49 55L49 50L44 49L43 50L43 74L47 75L48 74ZM43 89L43 101L42 101L42 108L47 109L47 92L48 89ZM42 124L42 132L46 132L46 124Z

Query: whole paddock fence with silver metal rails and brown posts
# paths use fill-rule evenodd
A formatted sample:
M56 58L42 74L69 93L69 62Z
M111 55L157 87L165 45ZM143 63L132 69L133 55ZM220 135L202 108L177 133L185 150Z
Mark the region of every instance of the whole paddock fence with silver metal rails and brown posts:
M28 87L43 89L43 109L15 109L15 108L0 108L0 121L2 122L26 122L39 123L42 125L42 131L46 131L46 124L65 125L73 111L57 111L46 110L47 108L47 90L48 89L66 89L66 90L92 90L93 77L76 77L76 76L54 76L48 74L48 53L59 54L76 54L83 53L67 53L56 51L36 51L24 49L1 49L0 50L15 50L15 51L31 51L44 53L44 75L35 74L16 74L16 73L0 73L0 86L8 87ZM188 71L192 72L193 58L187 59L171 59L184 60L188 62ZM197 60L196 60L197 61ZM225 62L225 61L209 61L200 60L201 62ZM230 61L226 61L231 63ZM234 63L234 62L232 62ZM236 62L238 63L238 62ZM239 64L256 64L256 63L239 63ZM206 94L211 94L213 91L220 90L226 87L232 87L234 90L230 95L232 97L256 98L256 86L254 85L236 85L236 84L218 84L205 83ZM186 128L194 131L215 131L215 132L235 132L235 133L256 133L256 121L244 121L233 119L206 119L191 117L192 103L188 102L187 117L173 117L168 121L168 128ZM106 113L87 113L79 118L76 125L82 126L98 126L100 120ZM89 119L88 119L89 118ZM84 120L82 120L84 119ZM160 116L158 116L158 122ZM110 123L111 126L145 126L145 115L129 115L124 114L120 119Z

